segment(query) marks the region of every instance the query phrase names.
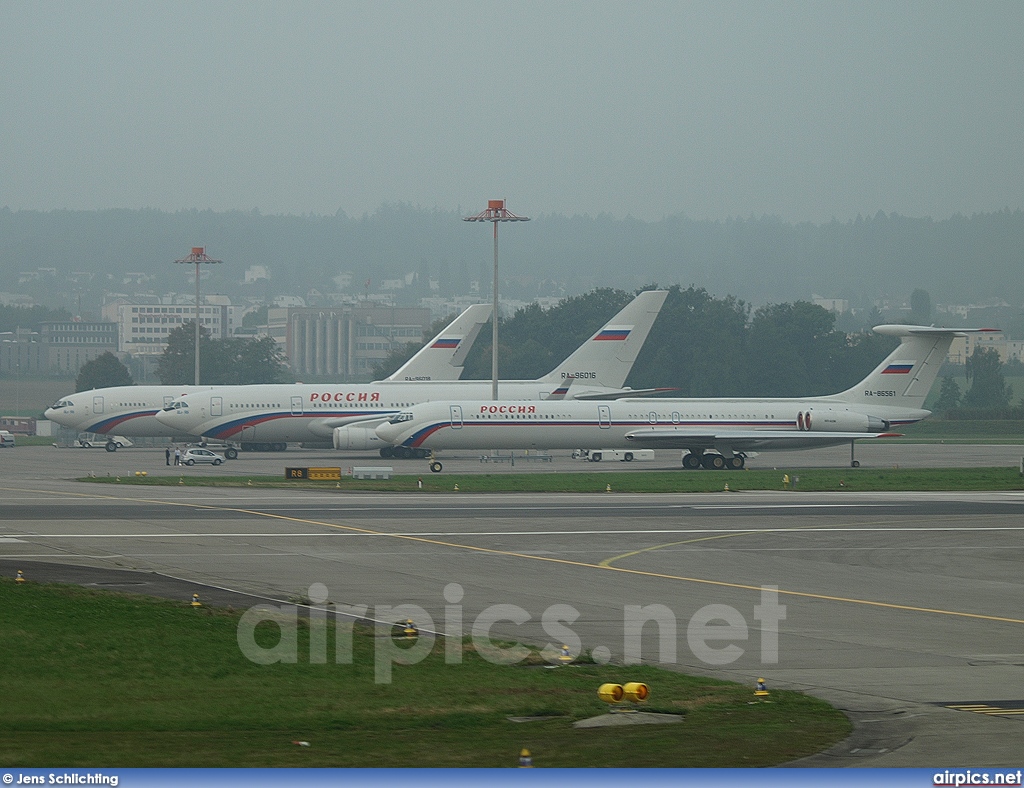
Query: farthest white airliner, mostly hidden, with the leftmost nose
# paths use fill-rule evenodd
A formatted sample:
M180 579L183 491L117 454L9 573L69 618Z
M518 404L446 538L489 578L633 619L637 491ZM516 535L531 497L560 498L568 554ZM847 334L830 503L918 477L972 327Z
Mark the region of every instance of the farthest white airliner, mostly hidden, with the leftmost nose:
M462 375L466 354L480 329L490 319L489 304L474 304L424 345L388 381L454 381ZM69 394L45 412L51 422L78 432L127 437L194 438L157 421L157 413L185 394L213 386L113 386ZM106 450L117 443L108 440Z

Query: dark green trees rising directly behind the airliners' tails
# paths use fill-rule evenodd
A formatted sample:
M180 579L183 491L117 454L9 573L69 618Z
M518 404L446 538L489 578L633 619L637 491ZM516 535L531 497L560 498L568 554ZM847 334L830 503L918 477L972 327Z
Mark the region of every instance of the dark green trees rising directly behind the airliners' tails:
M653 289L645 288L645 289ZM632 298L601 289L568 298L551 309L532 304L499 326L499 373L503 379L546 375L583 344ZM443 321L431 327L433 336ZM627 385L670 387L680 397L794 397L831 394L863 380L899 340L870 331L848 335L836 315L806 301L758 309L731 296L716 298L702 288L669 288L650 336ZM374 370L390 375L419 349L395 350ZM966 396L951 400L951 378L942 381L943 412L958 418L976 410L1010 408L1013 392L1002 379L994 350L981 350L969 366ZM466 380L490 378L490 332L484 327L469 353ZM945 397L945 399L941 399ZM952 405L949 403L953 402ZM1006 412L1011 412L1007 410ZM1008 417L1000 417L1008 418Z

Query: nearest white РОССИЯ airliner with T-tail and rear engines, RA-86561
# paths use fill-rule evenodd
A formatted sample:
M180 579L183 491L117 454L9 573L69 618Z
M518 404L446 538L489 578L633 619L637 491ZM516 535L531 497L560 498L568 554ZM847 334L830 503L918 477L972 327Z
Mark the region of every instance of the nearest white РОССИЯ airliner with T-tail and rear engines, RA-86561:
M416 405L377 428L408 450L684 449L684 468L741 469L745 452L895 437L931 413L923 406L953 337L992 329L879 325L900 345L839 394L799 398L618 399L613 402L451 401ZM441 465L431 459L430 470Z

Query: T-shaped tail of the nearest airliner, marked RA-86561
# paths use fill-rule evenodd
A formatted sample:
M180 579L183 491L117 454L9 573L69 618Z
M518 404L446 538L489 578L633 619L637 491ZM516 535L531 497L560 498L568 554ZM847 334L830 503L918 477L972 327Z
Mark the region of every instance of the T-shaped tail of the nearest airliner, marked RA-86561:
M930 325L876 325L878 334L900 344L863 381L828 399L851 404L895 405L921 409L954 337L996 329L937 329Z

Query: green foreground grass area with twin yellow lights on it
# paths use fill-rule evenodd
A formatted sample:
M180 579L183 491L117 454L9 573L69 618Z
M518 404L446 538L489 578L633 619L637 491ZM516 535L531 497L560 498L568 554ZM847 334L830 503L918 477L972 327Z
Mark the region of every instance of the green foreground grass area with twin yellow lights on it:
M0 579L0 764L35 767L765 767L846 737L823 701L650 666L546 668L485 661L467 642L446 664L437 642L376 684L389 632L356 624L352 661L310 663L298 622L295 663L256 664L239 646L241 613L129 594ZM276 623L256 627L262 648ZM341 637L348 637L342 632ZM675 725L574 729L607 714L605 683L644 682L650 711ZM509 717L538 717L514 723ZM296 742L308 742L298 746Z

